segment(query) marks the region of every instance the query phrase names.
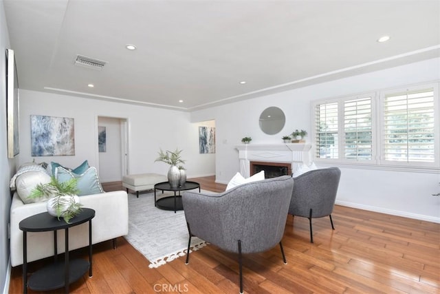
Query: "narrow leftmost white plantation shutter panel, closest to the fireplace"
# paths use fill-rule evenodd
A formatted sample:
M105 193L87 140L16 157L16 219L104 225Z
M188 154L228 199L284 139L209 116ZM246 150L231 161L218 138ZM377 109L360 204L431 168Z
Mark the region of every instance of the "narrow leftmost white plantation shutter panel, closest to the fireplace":
M338 158L338 103L315 108L316 157Z

